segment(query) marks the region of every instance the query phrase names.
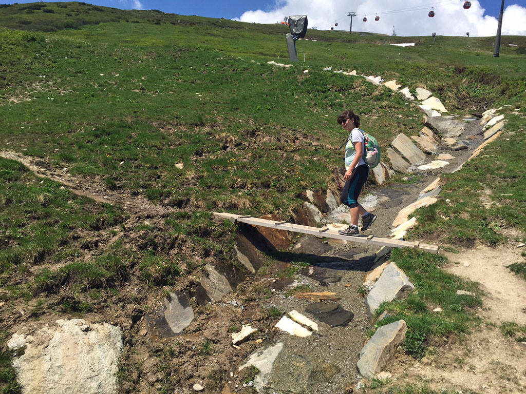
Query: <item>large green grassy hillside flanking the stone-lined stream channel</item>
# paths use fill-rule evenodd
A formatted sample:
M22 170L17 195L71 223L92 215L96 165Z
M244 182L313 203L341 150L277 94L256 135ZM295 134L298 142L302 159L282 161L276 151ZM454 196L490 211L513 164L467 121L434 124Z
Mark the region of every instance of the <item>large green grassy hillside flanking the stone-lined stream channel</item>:
M458 115L511 105L514 134L448 175L413 234L469 245L501 242L502 226L526 231L525 37L504 37L492 58L492 38L309 30L297 43L306 61L285 69L266 64L290 63L278 24L72 2L2 5L0 26L0 149L174 211L130 217L0 159L0 298L25 318L118 315L164 286L195 286L207 262L235 260L234 226L209 212L289 219L306 189L333 186L343 109L380 146L420 131L421 110L401 95L327 66L426 87ZM387 45L401 42L417 46ZM488 189L490 207L478 199Z

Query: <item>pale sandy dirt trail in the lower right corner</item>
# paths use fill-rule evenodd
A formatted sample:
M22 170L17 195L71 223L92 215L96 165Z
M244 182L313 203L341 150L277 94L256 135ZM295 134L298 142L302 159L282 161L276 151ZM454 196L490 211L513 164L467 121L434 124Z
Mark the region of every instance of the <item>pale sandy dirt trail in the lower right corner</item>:
M399 382L425 382L436 390L486 393L526 392L526 343L505 337L503 322L526 323L526 282L507 267L523 261L514 244L478 246L446 253L446 270L476 281L486 293L480 326L461 343L440 349L422 362L404 358L393 368ZM469 264L469 265L468 265Z

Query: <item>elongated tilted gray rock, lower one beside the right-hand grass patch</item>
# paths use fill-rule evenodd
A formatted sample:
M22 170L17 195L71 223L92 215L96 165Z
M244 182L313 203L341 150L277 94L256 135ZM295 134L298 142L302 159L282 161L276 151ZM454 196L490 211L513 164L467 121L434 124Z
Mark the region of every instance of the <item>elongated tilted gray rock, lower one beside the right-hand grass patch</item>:
M406 331L407 324L404 320L379 327L360 351L357 364L360 374L372 378L381 372L395 354L398 345L406 338Z

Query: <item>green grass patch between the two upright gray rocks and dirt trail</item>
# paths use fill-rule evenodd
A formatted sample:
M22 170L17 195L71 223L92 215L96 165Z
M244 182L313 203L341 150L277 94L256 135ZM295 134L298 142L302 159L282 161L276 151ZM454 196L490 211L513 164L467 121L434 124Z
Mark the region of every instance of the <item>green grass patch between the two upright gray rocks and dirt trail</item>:
M426 354L434 338L469 332L478 320L477 308L482 305L476 283L444 272L441 269L447 261L444 256L402 248L392 251L391 260L408 275L417 291L406 298L381 304L376 316L384 310L391 316L376 326L405 320L408 331L404 349L415 358ZM457 290L469 290L474 295L458 295ZM440 307L442 312L432 312L435 307Z

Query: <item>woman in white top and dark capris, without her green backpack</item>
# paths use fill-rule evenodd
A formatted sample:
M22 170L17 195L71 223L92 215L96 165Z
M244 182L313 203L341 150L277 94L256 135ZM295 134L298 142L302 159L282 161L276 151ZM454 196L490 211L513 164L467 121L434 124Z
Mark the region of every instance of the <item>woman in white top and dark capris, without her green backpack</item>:
M365 137L359 129L360 117L354 112L343 111L338 116L338 123L349 132L349 139L345 147L345 186L341 193L341 203L349 207L351 224L345 230L339 230L341 235L359 235L358 215L362 215L361 231L369 229L376 220L376 215L367 212L358 202L358 196L369 177L369 165L363 161L362 154L365 149Z

